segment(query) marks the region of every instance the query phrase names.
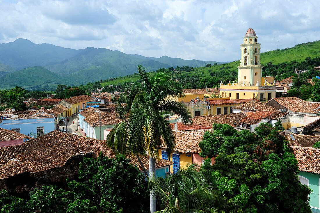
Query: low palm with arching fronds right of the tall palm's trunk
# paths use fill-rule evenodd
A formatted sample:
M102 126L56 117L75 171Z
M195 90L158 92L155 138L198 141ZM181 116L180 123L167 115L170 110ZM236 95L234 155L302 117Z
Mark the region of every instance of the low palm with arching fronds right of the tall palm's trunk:
M199 170L192 164L169 176L168 189L164 190L158 180L149 179L148 186L160 198L161 213L209 212L201 208L208 204L219 204L221 195L214 190L208 171Z

